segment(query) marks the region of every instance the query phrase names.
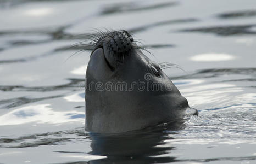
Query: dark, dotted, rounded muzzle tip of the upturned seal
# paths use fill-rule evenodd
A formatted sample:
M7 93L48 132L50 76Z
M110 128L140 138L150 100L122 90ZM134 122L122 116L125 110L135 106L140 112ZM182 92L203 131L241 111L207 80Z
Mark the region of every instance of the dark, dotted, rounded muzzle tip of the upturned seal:
M114 54L125 54L132 49L131 43L133 42L133 38L127 31L116 31L110 37L110 50Z

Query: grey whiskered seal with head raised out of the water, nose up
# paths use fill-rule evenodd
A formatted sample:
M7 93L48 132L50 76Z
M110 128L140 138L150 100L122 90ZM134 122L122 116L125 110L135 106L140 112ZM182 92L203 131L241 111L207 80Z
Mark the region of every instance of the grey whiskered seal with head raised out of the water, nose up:
M85 130L121 133L198 114L125 30L92 36L86 71ZM192 112L191 112L192 111Z

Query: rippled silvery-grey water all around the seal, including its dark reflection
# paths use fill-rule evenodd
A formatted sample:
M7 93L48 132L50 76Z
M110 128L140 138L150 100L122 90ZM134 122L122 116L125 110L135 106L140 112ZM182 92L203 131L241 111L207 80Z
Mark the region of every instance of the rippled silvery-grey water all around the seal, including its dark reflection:
M90 52L70 45L103 27L185 69L165 73L199 116L85 133ZM0 163L256 163L255 34L253 0L0 1Z

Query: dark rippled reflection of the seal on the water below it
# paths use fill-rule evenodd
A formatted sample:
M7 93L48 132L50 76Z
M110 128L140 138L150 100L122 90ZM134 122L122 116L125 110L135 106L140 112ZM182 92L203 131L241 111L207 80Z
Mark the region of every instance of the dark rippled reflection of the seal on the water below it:
M132 163L165 163L175 161L174 157L164 156L170 153L175 147L164 145L168 133L164 131L178 130L182 124L173 127L156 127L148 131L134 131L119 135L91 134L90 140L92 151L89 154L107 156L99 160L93 160L92 163L101 162L132 162Z

